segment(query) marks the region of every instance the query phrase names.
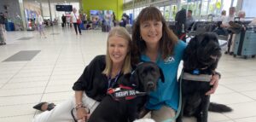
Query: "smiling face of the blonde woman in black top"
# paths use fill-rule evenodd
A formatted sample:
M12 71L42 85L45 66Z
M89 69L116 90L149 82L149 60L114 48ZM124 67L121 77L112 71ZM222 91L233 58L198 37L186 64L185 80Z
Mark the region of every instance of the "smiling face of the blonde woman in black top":
M113 65L122 65L129 51L128 40L113 36L108 38L108 53Z

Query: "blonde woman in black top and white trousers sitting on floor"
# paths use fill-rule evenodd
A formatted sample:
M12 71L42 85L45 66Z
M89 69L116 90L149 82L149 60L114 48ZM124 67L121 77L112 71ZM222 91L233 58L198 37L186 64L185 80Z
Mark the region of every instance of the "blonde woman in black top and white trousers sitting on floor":
M50 111L38 114L33 122L70 122L73 118L85 122L107 95L108 88L115 87L120 76L131 73L130 48L131 37L125 28L113 27L108 33L107 55L97 55L85 67L84 73L73 84L75 96ZM38 109L44 111L42 107L45 105L47 103ZM73 109L74 117L71 114Z

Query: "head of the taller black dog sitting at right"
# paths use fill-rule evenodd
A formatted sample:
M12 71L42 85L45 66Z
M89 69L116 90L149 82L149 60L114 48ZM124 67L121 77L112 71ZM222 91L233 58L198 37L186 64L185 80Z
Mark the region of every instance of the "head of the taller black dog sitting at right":
M220 57L221 48L217 36L212 32L206 32L189 41L183 55L183 67L186 69L210 68L214 70Z

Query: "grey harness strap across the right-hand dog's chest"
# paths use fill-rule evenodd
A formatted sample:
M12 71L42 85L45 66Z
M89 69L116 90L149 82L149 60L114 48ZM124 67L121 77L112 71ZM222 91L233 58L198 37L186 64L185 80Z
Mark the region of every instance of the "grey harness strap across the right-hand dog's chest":
M209 74L194 75L194 74L190 74L190 73L183 73L183 79L210 82L212 79L212 75L209 75Z

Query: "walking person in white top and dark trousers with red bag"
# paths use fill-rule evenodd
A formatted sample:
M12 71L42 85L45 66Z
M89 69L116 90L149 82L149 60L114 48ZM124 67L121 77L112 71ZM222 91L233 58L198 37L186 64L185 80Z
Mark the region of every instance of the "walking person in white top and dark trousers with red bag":
M79 29L79 34L82 35L81 28L79 26L81 22L82 21L80 19L79 14L77 13L77 9L73 8L73 12L71 12L71 15L70 15L70 23L73 23L73 27L77 35L78 35L78 29Z

